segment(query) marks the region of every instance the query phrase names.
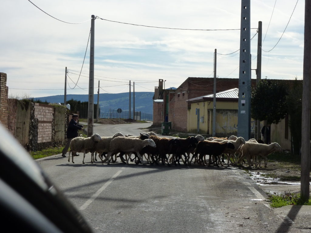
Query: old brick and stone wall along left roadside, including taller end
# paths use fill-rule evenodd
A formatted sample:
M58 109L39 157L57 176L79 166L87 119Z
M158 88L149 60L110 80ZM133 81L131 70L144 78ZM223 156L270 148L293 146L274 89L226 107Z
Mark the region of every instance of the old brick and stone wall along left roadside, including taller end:
M8 98L7 75L0 73L0 122L28 151L66 142L69 110L64 106Z

